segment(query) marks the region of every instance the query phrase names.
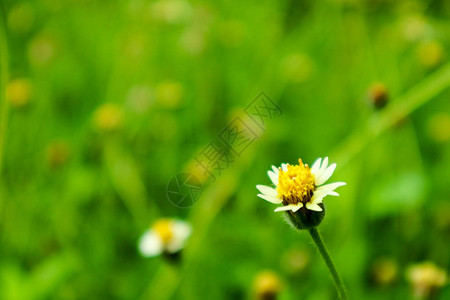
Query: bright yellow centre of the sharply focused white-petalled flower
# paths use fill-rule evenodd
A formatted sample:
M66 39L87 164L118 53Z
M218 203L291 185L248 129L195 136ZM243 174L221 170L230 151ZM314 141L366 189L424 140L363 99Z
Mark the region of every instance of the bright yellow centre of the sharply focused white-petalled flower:
M308 165L298 160L298 165L287 165L287 171L280 168L277 192L283 199L283 204L307 203L316 188L314 174Z

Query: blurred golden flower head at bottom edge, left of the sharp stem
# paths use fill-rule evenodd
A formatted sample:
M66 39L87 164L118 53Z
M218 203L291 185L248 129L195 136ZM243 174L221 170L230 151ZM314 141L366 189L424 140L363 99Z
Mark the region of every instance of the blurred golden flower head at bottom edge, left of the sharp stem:
M254 297L257 300L275 300L281 289L280 278L272 271L260 272L253 283Z

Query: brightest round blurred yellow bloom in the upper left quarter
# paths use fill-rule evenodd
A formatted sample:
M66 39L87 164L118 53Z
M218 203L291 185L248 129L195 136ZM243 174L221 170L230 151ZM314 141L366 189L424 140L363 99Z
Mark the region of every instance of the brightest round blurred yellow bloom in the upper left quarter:
M113 103L103 104L94 113L94 125L100 131L115 131L120 128L122 121L122 109Z

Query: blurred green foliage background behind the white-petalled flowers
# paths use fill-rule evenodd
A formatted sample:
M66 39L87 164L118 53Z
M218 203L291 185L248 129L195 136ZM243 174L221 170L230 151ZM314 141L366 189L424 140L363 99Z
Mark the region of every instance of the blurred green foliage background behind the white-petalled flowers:
M272 164L299 157L330 156L348 183L319 229L352 299L412 297L412 263L448 270L448 1L1 10L1 299L247 299L266 269L280 299L333 299L309 236L256 197ZM169 180L261 91L283 115L195 205L172 205ZM160 217L193 225L181 265L137 251Z

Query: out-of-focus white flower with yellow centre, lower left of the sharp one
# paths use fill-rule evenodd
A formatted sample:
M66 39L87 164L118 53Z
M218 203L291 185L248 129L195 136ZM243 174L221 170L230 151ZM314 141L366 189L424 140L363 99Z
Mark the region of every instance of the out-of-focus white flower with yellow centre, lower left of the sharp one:
M184 221L159 219L139 239L139 251L145 257L176 253L184 247L191 231Z

